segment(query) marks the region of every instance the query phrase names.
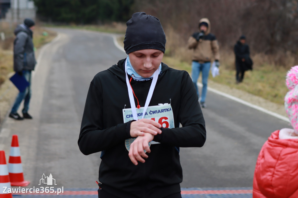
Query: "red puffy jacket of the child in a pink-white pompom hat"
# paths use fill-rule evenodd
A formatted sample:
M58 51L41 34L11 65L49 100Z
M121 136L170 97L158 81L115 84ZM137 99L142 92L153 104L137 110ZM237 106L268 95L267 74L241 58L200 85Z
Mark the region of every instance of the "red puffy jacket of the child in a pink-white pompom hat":
M279 139L274 131L264 143L254 171L254 198L298 198L298 139Z

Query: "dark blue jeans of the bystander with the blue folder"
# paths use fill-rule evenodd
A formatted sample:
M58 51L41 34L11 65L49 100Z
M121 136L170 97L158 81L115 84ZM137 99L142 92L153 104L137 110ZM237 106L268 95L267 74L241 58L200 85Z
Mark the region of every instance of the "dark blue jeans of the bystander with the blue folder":
M13 108L11 109L11 113L15 114L18 111L18 108L21 102L24 100L24 108L22 110L23 114L27 113L29 110L29 103L31 98L31 70L23 70L23 76L29 82L29 86L23 92L19 92L17 98L15 99L15 103Z

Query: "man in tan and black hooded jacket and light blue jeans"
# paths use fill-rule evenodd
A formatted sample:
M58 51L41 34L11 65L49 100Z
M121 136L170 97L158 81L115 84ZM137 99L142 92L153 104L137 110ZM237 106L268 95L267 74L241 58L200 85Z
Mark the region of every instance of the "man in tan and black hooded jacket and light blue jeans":
M219 45L215 35L210 33L210 22L207 18L202 18L199 21L199 31L195 32L188 39L188 48L193 49L192 57L192 79L195 89L197 90L198 97L200 98L197 81L202 72L202 94L199 101L202 108L206 108L206 94L207 82L210 70L210 61L215 60L215 66L219 67Z

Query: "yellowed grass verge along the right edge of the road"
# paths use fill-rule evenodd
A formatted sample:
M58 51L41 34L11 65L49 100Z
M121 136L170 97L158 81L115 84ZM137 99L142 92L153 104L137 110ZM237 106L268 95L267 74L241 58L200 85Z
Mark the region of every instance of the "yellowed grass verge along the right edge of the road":
M220 75L213 78L210 74L209 80L260 96L274 103L284 103L283 98L288 91L285 86L285 76L289 68L266 64L258 59L263 56L257 54L252 57L255 61L254 70L247 71L243 82L236 84L234 54L221 51L221 57ZM164 57L163 62L170 67L186 70L188 73L191 73L191 64L189 62L180 61L175 57L167 56ZM294 66L294 64L292 66Z

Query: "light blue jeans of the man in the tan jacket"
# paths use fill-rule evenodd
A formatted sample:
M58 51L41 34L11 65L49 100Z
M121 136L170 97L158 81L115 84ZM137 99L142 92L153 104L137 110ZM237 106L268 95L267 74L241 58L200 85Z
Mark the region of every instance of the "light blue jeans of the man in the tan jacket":
M192 62L192 75L191 78L193 79L193 84L195 85L195 89L197 90L197 95L200 98L197 81L200 76L200 71L202 71L202 97L200 102L205 102L206 95L207 95L207 83L208 83L208 76L209 76L209 70L210 70L210 62L206 63L199 63L196 61Z

